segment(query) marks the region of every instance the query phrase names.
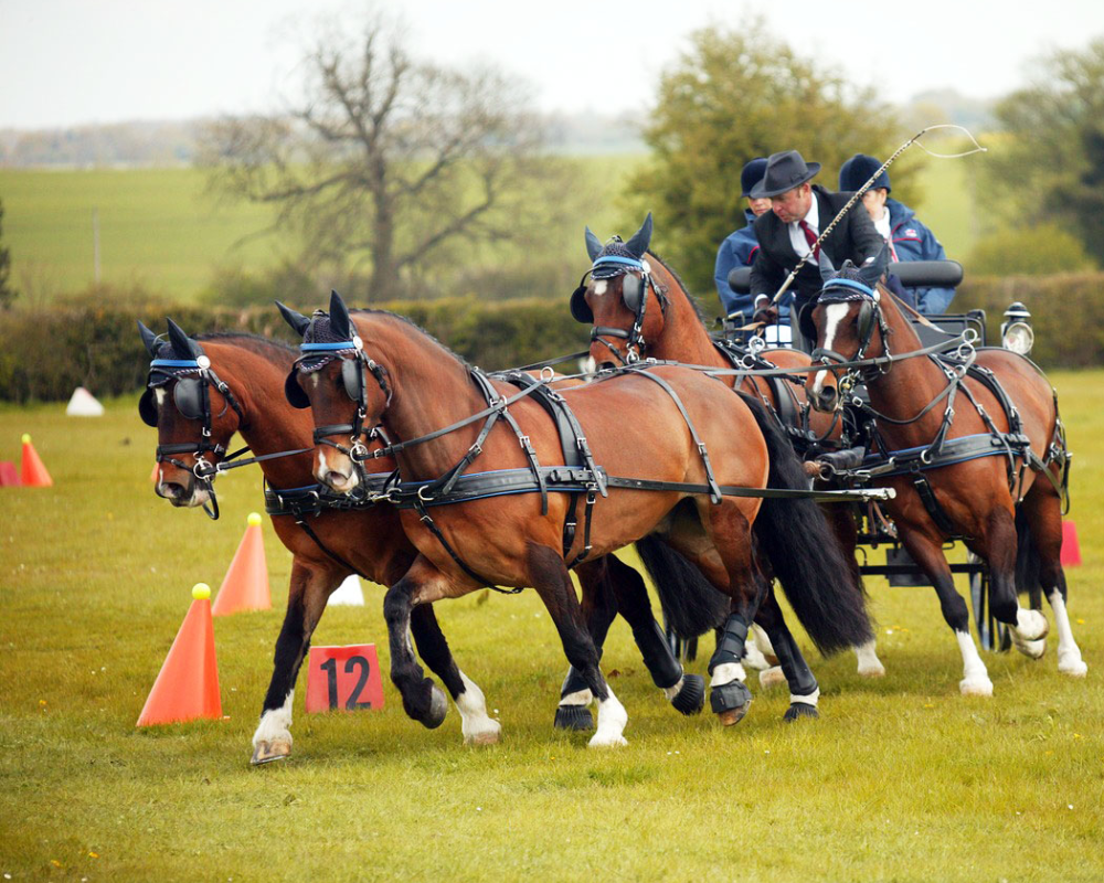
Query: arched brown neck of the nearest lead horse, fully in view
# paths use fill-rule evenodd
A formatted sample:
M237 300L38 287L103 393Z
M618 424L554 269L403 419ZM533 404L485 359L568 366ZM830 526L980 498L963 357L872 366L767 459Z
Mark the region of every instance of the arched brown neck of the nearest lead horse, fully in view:
M440 429L482 411L487 401L471 382L468 368L413 325L388 313L353 313L368 355L388 371L391 404L381 422L395 442ZM374 383L365 377L368 383ZM482 421L402 451L400 465L410 478L436 477L470 447Z

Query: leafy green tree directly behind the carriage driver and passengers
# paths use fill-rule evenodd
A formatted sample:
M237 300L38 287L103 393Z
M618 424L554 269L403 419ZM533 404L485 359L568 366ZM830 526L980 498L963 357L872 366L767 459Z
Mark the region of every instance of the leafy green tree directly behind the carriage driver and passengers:
M716 249L744 225L740 170L754 157L796 149L822 163L815 180L835 190L842 162L857 152L882 159L901 138L895 119L870 92L856 92L839 74L798 57L761 21L736 30L709 28L659 84L645 129L651 159L630 179L626 228L656 213L656 237L690 287L711 292ZM893 195L907 201L916 158L894 164ZM635 230L635 227L633 227Z

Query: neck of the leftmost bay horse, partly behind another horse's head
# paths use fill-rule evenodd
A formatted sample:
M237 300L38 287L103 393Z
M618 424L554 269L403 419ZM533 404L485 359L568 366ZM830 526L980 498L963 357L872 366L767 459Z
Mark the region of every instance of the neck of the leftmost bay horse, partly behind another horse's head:
M219 377L230 386L242 408L238 434L254 456L307 448L296 457L275 457L261 462L274 488L295 488L314 483L310 411L291 407L284 395L284 380L295 354L274 362L252 350L231 342L205 342L204 349ZM283 354L283 353L282 353Z

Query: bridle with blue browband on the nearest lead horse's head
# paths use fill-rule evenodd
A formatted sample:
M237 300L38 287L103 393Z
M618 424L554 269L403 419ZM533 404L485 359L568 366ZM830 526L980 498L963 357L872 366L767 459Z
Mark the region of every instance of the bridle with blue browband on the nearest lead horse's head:
M323 426L316 426L314 434L315 445L328 445L331 448L344 454L350 460L357 464L358 468L371 455L368 449L368 442L381 439L388 444L383 436L383 429L379 425L364 429L364 418L368 416L368 396L364 386L364 372L370 373L380 385L380 391L384 396L384 404L381 411L386 411L391 405L392 390L388 385L388 370L379 362L370 359L364 353L364 342L358 334L353 334L350 340L339 340L330 343L302 343L299 347L302 353L291 365L291 372L284 384L284 392L288 402L294 407L306 408L310 406L310 400L299 386L297 375L305 371L318 371L335 360L341 362L341 381L346 395L357 405L357 412L351 423L333 423ZM329 436L347 435L349 445L333 442Z

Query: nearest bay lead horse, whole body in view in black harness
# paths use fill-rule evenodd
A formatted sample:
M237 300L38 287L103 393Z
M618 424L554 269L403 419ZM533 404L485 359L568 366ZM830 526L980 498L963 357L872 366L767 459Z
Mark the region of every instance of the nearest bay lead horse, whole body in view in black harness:
M761 432L761 424L773 427L765 414L756 416L755 403L733 406L735 394L724 384L693 371L658 368L647 377L628 375L562 390L556 401L564 402L566 411L561 413L580 427L574 445L590 465L563 470L566 476L590 476L585 526L565 541L571 501L577 502L578 493L484 496L436 506L432 515L427 507L438 502L435 490L449 487L473 462L492 477L508 470L528 475L537 462L566 467L556 423L534 401L532 386L519 393L517 386L475 371L403 317L378 310L350 315L337 292L329 315L285 317L304 331L304 355L288 375L286 390L293 403L309 404L314 413L316 478L336 491L353 491L363 455L355 457L342 443L351 438L355 444L358 436L350 436L350 429L357 426L381 426L396 439L389 453L395 453L406 487L417 491L407 494L412 508L400 511L420 555L384 599L391 679L412 716L429 713L437 689L424 677L406 640L413 611L485 586L532 586L555 624L569 662L597 702L597 728L590 744L624 745L628 717L598 668L567 565L656 533L733 598L710 671L713 711L722 722L736 723L751 700L740 659L758 603L751 525L761 513L779 525L795 520L805 531L805 542L788 550L777 566L784 586L816 611L806 628L818 646L831 651L869 638L861 599L840 593L831 577L846 563L819 510L807 500L785 506L772 500L772 506L761 507L757 498L716 496L710 502L700 492L639 491L609 483L615 475L697 482L686 487L702 489L702 481L714 478L742 488L763 488L768 477L782 482L788 446L783 447L781 434ZM351 379L363 390L360 411L348 394ZM657 394L656 385L669 394ZM510 425L503 426L507 419ZM707 468L707 447L712 470ZM604 472L594 466L597 462ZM788 465L802 472L792 453ZM538 469L534 466L533 472ZM803 474L797 481L804 487ZM423 494L426 489L428 497ZM808 699L815 704L814 696Z

